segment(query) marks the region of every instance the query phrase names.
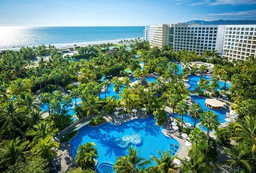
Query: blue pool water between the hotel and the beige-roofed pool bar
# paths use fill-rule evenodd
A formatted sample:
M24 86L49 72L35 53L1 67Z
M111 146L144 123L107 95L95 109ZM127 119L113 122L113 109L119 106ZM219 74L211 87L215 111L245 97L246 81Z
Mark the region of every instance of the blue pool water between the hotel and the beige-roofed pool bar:
M196 89L196 86L198 85L198 81L200 80L200 76L196 76L196 75L188 75L188 84L190 85L188 90L193 91ZM210 81L211 77L203 75L203 79ZM207 84L209 84L210 82L208 82ZM220 89L222 89L224 87L224 83L223 81L219 81L219 88L218 91L220 91ZM230 84L226 82L226 88L228 89L230 87Z

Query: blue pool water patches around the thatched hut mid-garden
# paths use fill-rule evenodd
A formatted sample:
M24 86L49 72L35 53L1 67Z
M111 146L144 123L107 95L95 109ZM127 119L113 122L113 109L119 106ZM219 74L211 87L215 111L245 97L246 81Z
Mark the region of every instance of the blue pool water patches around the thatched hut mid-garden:
M146 77L145 78L147 82L155 82L157 83L156 77ZM137 81L137 79L130 79L132 82ZM124 90L124 85L119 89L119 93L121 93ZM109 84L107 87L106 97L115 97L116 99L120 99L121 96L118 96L118 93L114 91L114 85ZM105 92L100 93L100 98L105 99Z

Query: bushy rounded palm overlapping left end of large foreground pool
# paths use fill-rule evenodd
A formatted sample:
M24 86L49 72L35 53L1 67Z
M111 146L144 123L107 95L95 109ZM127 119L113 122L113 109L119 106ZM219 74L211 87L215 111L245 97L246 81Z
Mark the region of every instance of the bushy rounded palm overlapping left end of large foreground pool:
M95 162L94 158L98 158L98 152L95 148L95 143L90 142L78 147L76 154L76 163L83 169L94 169Z

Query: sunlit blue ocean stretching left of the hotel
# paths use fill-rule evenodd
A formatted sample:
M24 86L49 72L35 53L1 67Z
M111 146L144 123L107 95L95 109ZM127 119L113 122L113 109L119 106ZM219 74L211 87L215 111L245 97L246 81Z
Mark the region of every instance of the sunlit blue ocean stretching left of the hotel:
M0 50L38 45L56 47L143 38L145 27L0 27Z

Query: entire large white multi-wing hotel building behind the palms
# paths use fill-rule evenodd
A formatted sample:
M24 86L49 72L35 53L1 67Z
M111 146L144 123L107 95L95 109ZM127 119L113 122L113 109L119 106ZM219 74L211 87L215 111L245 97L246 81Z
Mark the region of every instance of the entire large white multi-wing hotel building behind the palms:
M217 50L228 60L256 57L256 25L160 24L145 28L152 46L171 46L174 51Z

